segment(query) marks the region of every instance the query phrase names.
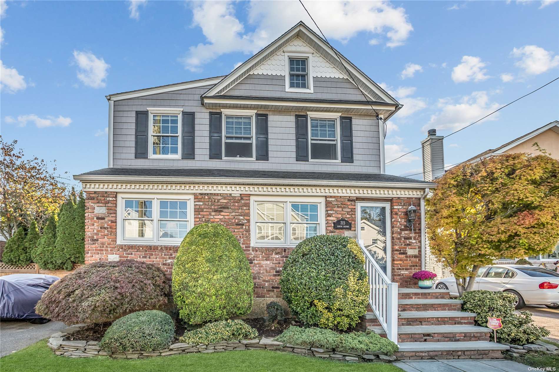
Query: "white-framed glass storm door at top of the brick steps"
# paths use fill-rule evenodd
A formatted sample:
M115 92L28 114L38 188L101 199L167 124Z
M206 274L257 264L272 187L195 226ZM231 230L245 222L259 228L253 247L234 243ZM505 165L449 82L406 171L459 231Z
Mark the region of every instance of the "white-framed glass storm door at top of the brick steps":
M390 203L357 203L357 239L390 279Z

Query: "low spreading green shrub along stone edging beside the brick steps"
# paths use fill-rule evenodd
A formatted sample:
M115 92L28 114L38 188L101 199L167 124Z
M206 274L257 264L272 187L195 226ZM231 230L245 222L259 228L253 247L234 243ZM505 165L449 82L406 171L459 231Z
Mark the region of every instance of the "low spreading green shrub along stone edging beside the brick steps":
M291 326L283 331L280 336L277 336L275 340L283 344L336 349L357 354L380 352L381 354L392 355L398 350L398 346L394 342L370 331L337 333L316 327Z

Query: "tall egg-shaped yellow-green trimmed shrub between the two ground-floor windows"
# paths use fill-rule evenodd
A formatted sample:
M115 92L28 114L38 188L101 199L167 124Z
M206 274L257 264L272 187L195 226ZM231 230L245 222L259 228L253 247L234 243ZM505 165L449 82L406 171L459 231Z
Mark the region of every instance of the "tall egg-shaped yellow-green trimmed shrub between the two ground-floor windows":
M202 223L184 237L173 266L173 298L191 325L250 312L252 273L235 236L219 223Z

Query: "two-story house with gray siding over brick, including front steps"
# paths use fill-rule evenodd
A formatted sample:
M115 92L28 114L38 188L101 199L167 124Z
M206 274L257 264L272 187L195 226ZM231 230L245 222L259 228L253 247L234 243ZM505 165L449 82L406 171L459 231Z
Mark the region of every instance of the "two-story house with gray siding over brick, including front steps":
M248 257L255 296L274 298L298 242L347 235L371 284L361 326L399 342L401 358L506 349L448 293L417 293L435 184L385 173L384 121L402 105L304 23L229 75L107 101L108 167L74 176L87 195L87 263L144 260L170 276L188 230L219 222Z

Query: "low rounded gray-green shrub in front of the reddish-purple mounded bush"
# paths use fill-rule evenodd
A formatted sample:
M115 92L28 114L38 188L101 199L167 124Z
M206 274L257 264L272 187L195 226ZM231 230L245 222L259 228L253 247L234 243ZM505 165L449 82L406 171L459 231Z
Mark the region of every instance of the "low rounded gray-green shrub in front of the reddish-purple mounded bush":
M174 322L159 310L136 311L107 328L99 347L112 352L167 349L173 342Z

